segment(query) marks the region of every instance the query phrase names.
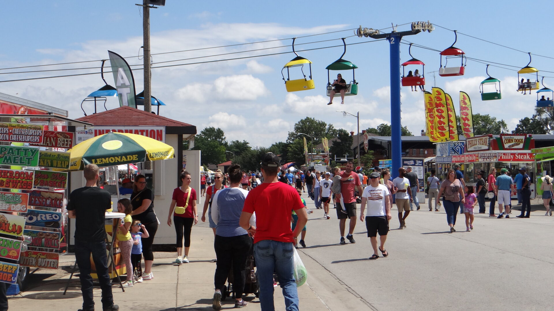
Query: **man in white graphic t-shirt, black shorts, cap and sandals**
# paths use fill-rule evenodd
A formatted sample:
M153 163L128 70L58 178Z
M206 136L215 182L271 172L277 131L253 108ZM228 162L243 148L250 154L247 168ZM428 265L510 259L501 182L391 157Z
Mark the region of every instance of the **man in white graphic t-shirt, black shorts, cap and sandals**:
M392 218L391 200L387 198L390 195L387 186L379 184L379 178L381 178L381 175L377 172L370 174L370 185L363 189L362 206L360 208L360 220L363 221L363 211L367 203L367 215L365 217L367 236L370 237L371 246L373 247L373 255L371 255L370 260L379 258L377 254L377 233L379 233L379 240L381 240L379 251L381 251L383 257L388 256L387 250L384 249L384 242L387 240L388 220Z

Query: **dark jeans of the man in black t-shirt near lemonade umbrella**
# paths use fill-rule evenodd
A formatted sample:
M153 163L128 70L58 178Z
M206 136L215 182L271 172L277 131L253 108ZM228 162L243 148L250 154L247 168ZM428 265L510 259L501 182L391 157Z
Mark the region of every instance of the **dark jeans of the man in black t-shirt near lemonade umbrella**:
M111 293L111 279L107 273L106 242L85 242L75 240L75 261L79 266L79 279L83 293L83 309L94 309L93 277L90 276L90 255L93 255L96 274L102 289L102 308L109 308L114 304Z

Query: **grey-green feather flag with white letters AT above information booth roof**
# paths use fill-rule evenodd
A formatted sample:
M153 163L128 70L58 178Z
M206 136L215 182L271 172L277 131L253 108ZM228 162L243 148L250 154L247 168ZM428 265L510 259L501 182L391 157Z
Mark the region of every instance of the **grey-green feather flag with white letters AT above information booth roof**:
M107 51L107 54L110 56L111 71L114 74L119 106L136 108L135 79L129 64L117 53Z

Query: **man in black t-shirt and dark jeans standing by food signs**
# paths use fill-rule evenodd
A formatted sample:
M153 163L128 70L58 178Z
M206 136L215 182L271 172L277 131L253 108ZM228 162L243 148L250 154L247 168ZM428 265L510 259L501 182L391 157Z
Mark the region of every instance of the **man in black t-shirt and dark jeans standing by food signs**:
M99 169L95 164L85 166L86 184L69 195L69 218L75 219L75 261L79 266L83 309L94 310L93 278L90 276L90 255L93 255L96 274L102 289L102 310L116 311L107 271L105 212L111 207L110 193L96 186Z

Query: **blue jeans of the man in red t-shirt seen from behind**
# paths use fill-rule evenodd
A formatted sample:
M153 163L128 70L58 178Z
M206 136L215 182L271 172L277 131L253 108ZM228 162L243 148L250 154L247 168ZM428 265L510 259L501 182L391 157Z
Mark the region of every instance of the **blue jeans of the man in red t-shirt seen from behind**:
M298 291L294 280L293 243L263 240L254 244L258 268L261 311L275 311L273 303L273 272L283 288L286 311L298 311Z

